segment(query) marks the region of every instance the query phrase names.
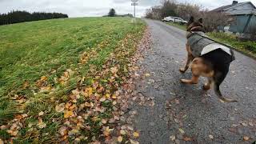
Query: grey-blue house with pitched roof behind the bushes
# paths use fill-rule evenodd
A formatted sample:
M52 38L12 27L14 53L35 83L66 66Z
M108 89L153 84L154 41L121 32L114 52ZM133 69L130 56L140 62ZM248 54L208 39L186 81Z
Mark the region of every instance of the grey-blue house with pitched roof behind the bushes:
M256 7L252 2L233 1L230 5L211 11L228 14L228 30L234 34L251 34L252 31L256 31Z

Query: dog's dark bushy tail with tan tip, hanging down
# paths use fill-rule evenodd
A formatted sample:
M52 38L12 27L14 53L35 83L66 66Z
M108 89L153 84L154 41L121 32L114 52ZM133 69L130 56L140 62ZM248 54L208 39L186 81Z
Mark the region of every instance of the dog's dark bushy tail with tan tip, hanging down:
M219 90L219 86L222 84L224 79L226 78L226 74L228 73L228 70L222 71L222 72L215 72L214 74L214 92L218 95L218 98L222 100L222 102L238 102L234 99L224 98L222 95L221 90Z

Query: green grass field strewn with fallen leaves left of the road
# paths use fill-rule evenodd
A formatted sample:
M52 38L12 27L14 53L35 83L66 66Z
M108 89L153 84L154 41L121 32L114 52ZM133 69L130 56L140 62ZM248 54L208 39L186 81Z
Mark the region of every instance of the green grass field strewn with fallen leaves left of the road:
M113 117L115 91L145 27L130 18L0 26L0 138L14 143L101 139L107 125L102 119ZM104 112L92 114L96 106Z

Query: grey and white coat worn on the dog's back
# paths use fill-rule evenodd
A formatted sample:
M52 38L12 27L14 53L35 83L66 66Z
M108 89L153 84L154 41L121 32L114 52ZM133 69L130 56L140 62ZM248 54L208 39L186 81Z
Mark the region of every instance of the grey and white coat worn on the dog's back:
M224 46L214 40L208 38L202 31L194 31L187 35L187 42L190 45L192 55L197 58L203 54L210 53L213 50L221 49L232 56L234 60L234 52L229 47Z

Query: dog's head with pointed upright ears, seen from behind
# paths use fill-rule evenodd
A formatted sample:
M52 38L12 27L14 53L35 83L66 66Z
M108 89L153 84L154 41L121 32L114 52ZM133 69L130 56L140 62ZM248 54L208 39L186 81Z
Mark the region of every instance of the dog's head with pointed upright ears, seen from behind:
M202 31L205 32L205 28L202 24L202 18L199 18L198 21L194 21L194 17L190 17L190 21L187 23L186 31Z

